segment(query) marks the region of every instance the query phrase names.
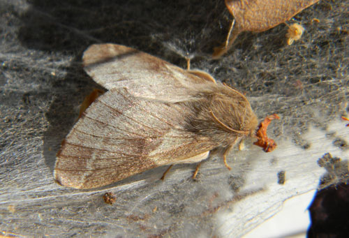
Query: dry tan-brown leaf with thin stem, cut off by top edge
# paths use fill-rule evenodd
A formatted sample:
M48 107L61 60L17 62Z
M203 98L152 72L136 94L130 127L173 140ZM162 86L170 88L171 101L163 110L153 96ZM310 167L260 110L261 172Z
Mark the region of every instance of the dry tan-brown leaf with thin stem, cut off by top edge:
M297 13L319 0L225 0L234 16L227 40L222 47L214 49L214 58L221 57L229 50L234 40L243 31L267 31L290 20Z

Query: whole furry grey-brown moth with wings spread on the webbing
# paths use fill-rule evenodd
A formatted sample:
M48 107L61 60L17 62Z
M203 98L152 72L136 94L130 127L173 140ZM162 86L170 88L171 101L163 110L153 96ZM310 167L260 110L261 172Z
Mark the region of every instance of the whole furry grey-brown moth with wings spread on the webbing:
M202 71L123 45L91 45L84 70L109 91L82 112L57 153L54 178L96 188L161 165L225 155L258 121L246 97Z

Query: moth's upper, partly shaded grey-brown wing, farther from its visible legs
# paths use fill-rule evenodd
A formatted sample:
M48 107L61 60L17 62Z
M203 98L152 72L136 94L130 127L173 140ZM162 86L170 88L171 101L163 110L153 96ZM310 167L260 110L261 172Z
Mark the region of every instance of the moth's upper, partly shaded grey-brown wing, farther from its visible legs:
M207 83L215 83L213 77L190 73L124 45L91 45L82 61L84 70L106 89L125 87L134 96L161 101L187 100Z

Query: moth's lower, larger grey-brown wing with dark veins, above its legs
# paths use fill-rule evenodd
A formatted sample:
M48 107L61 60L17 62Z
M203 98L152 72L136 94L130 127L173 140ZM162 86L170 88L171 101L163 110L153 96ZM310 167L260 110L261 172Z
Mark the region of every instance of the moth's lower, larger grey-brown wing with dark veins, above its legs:
M186 131L185 107L135 98L126 89L107 91L62 143L55 179L64 186L95 188L214 148L208 137Z

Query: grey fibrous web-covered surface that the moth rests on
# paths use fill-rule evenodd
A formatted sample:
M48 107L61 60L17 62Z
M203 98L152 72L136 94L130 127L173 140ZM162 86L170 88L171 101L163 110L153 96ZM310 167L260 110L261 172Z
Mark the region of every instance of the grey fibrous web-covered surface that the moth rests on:
M211 60L230 20L223 1L0 1L0 231L54 237L191 235L237 237L274 214L283 200L314 189L323 154L348 158L349 1L320 1L288 23L306 31L287 45L287 27L245 33ZM317 18L320 22L313 22ZM94 191L54 183L61 140L79 105L101 88L80 65L93 43L135 47L246 93L260 119L278 113L270 154L246 142L221 158L165 168ZM277 173L285 171L285 184ZM339 178L340 179L340 178ZM117 198L103 202L105 191ZM0 233L1 234L1 233Z

